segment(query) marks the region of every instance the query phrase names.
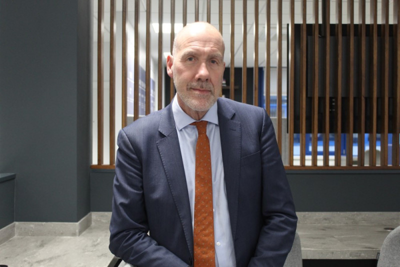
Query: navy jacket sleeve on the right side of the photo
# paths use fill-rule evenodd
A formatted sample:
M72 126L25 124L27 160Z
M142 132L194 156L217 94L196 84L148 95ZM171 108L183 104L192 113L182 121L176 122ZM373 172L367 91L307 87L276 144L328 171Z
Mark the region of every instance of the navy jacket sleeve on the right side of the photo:
M265 110L260 151L263 225L248 266L283 266L293 244L297 216L273 125Z

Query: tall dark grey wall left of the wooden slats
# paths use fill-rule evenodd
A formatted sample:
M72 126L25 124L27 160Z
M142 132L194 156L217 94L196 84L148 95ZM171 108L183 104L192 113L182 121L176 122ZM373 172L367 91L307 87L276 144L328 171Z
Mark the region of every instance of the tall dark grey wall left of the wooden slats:
M0 1L0 172L15 220L90 211L90 0Z

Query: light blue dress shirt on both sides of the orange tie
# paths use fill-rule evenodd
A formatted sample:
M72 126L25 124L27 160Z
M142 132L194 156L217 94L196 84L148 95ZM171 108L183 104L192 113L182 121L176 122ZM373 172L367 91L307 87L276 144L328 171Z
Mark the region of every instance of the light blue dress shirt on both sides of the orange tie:
M197 128L190 125L195 119L187 115L173 98L172 113L182 154L187 190L189 193L191 225L194 224L194 172L197 142ZM201 120L208 121L207 136L210 142L211 171L212 171L212 202L214 209L214 245L216 267L235 267L232 232L228 204L226 200L225 181L223 178L223 162L221 139L219 135L217 104L207 111Z

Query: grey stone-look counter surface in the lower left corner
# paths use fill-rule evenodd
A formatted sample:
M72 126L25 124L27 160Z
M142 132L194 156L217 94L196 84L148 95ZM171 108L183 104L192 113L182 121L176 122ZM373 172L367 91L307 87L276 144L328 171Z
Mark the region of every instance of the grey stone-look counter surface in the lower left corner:
M107 266L109 230L93 223L79 236L14 236L0 245L0 265L8 267Z

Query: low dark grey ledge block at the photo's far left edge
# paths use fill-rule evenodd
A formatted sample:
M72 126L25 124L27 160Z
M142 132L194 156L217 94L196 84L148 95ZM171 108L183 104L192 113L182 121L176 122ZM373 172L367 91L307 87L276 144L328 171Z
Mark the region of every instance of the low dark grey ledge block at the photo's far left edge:
M14 221L15 174L0 173L0 229Z

